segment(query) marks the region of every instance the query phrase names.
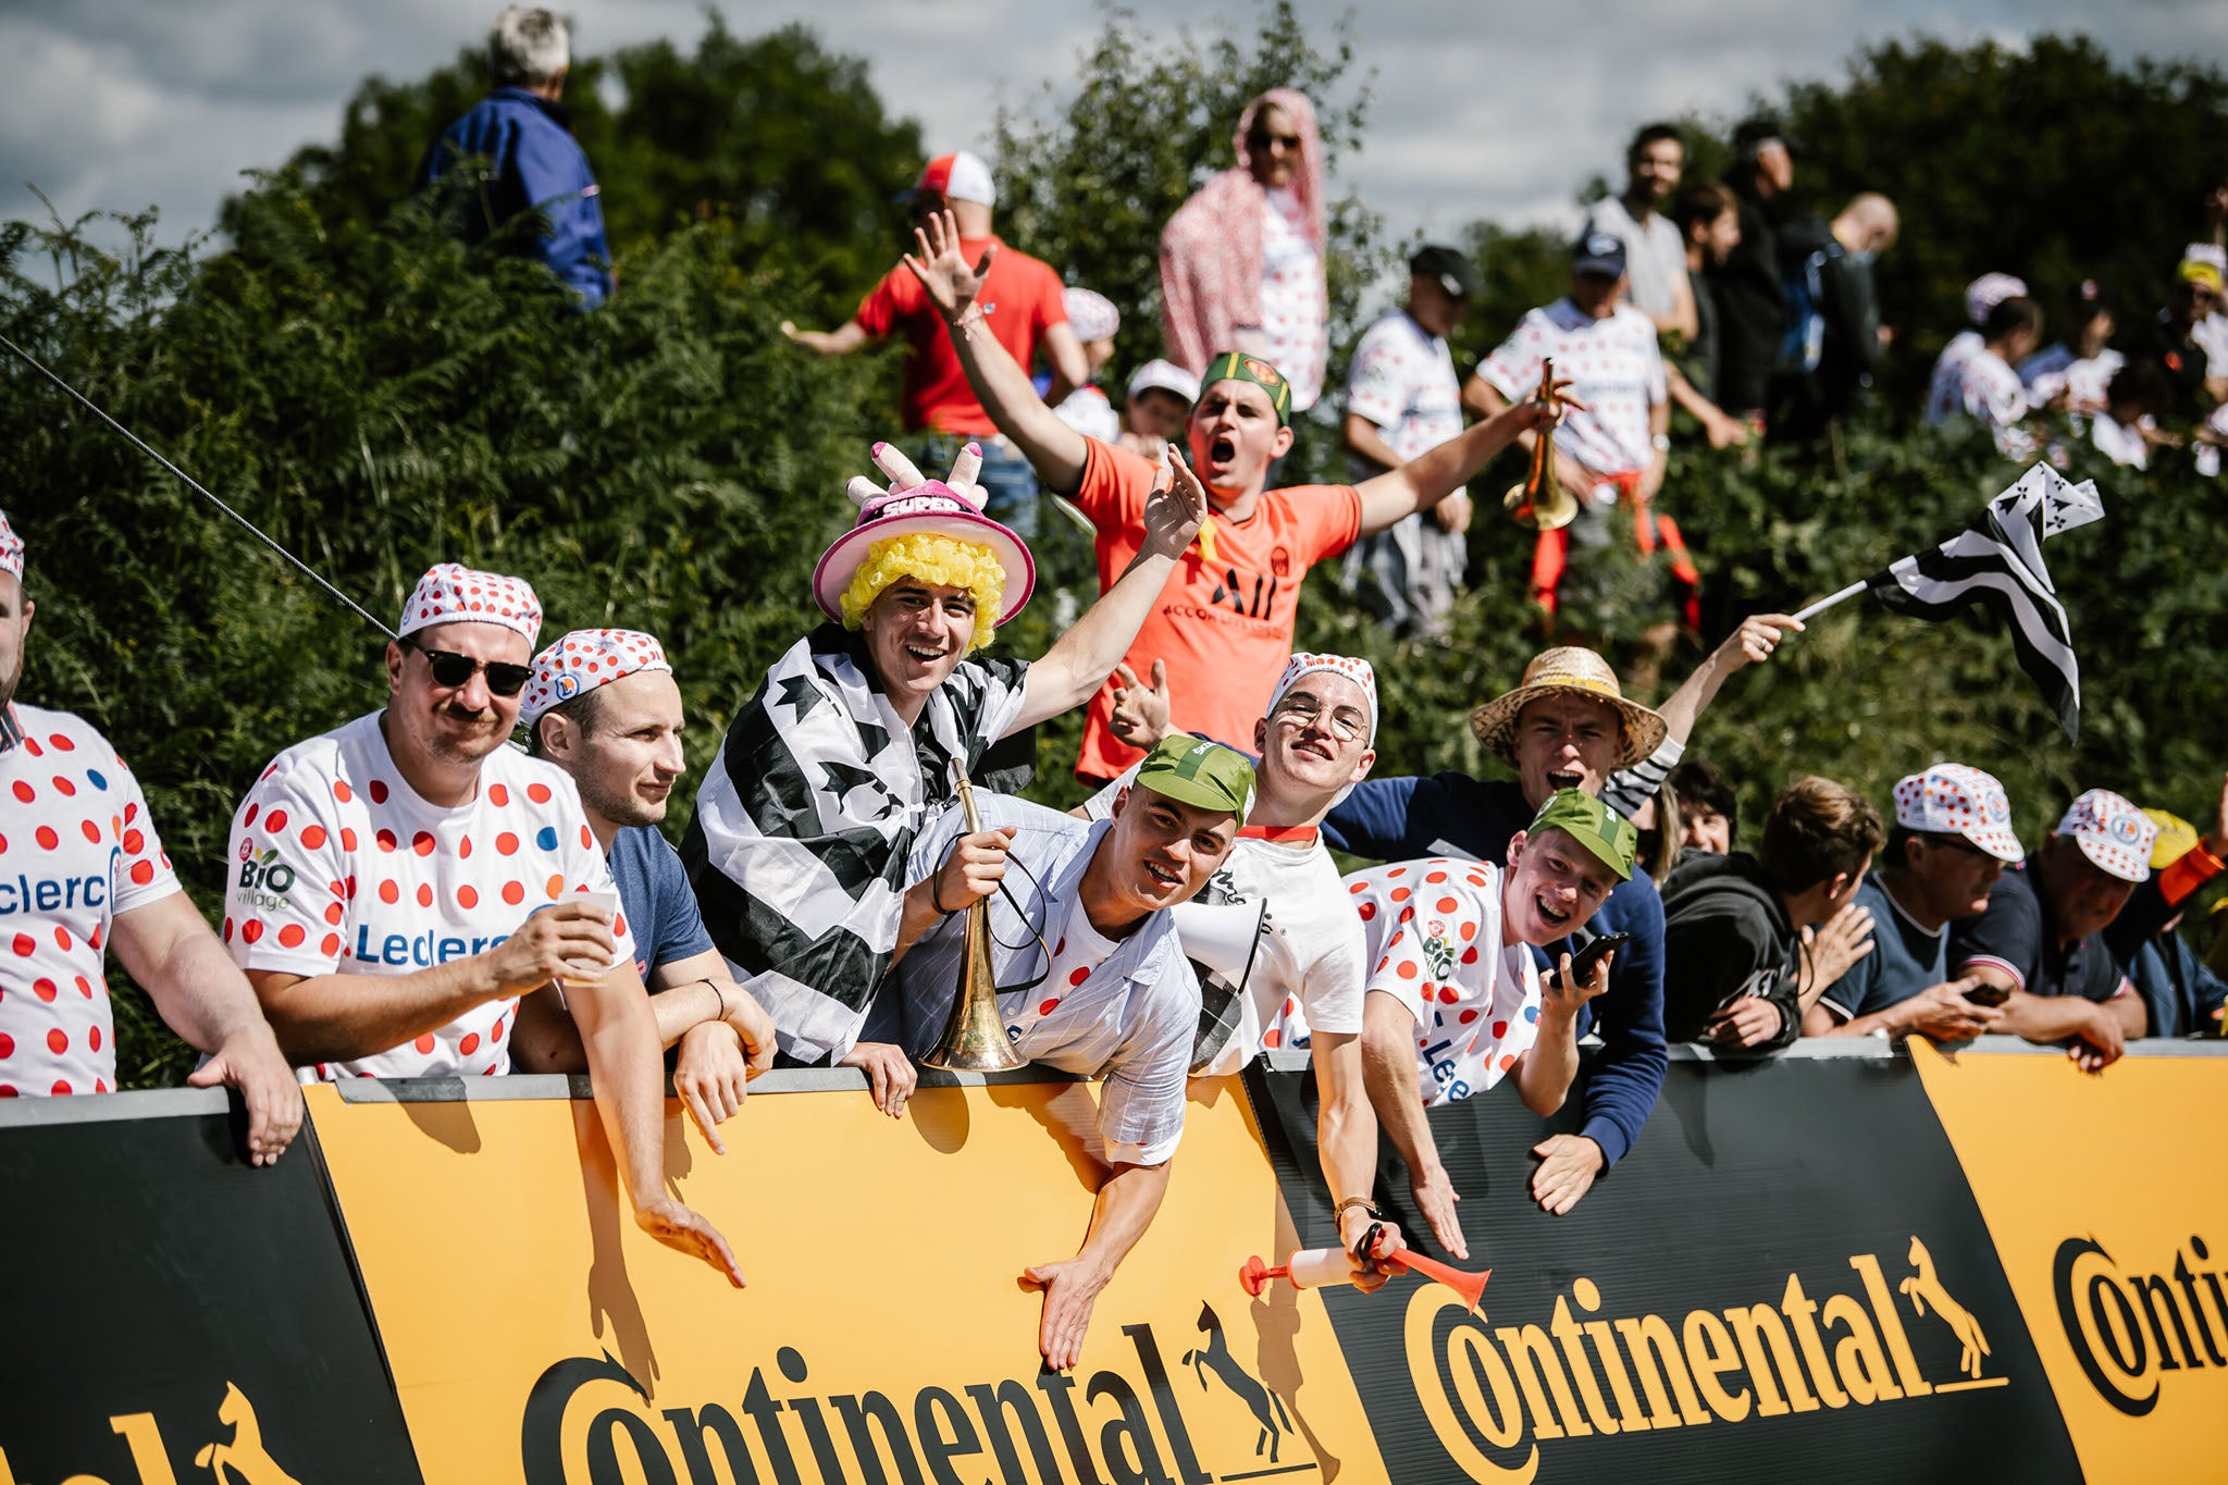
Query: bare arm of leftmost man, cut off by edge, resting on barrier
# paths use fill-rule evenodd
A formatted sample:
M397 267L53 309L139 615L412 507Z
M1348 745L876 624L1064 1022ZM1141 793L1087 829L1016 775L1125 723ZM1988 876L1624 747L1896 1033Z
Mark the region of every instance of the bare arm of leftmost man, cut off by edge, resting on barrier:
M187 1078L225 1084L247 1104L247 1158L276 1160L301 1129L301 1084L232 955L185 893L118 913L109 924L116 960L147 989L169 1029L209 1053Z

